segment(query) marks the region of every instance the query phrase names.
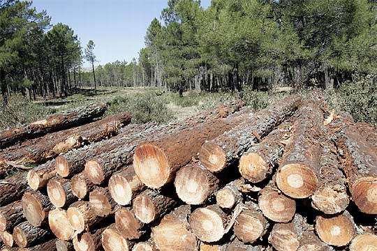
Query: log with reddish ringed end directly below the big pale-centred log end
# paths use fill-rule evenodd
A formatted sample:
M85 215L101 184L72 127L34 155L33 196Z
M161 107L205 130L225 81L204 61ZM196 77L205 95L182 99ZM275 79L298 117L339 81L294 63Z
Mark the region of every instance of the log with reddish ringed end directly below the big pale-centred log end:
M260 190L258 206L263 215L274 222L289 222L296 212L296 201L286 197L276 188L276 176Z

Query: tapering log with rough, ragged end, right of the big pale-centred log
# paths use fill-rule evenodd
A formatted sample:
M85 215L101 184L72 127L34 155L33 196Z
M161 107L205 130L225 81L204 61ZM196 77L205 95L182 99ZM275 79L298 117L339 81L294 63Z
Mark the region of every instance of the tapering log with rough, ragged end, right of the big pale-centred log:
M325 130L325 129L324 129ZM325 214L343 212L350 199L347 194L346 178L341 172L337 148L331 141L331 134L326 130L322 141L318 189L311 196L312 206Z

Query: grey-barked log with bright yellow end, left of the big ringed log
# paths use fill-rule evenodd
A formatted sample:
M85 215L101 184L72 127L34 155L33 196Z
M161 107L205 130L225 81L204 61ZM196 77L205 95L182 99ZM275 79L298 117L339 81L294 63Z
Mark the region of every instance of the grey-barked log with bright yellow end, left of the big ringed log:
M239 173L251 183L265 180L272 174L283 154L284 144L290 137L290 126L286 121L269 133L262 142L251 147L239 159Z

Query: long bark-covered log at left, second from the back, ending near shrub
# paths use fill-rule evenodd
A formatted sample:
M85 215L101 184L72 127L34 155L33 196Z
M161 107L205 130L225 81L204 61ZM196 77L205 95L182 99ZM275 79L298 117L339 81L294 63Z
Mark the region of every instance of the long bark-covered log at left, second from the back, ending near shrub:
M0 157L20 165L43 164L49 159L84 144L98 142L116 135L122 126L131 122L128 113L117 114L84 126L52 132L43 137L13 146L1 153Z

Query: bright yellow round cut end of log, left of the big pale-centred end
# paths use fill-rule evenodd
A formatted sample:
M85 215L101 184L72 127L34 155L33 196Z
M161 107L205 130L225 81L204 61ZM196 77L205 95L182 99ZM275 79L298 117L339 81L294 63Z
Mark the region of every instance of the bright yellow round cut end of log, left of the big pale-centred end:
M248 153L239 159L239 173L251 183L263 181L269 172L269 164L258 153Z

